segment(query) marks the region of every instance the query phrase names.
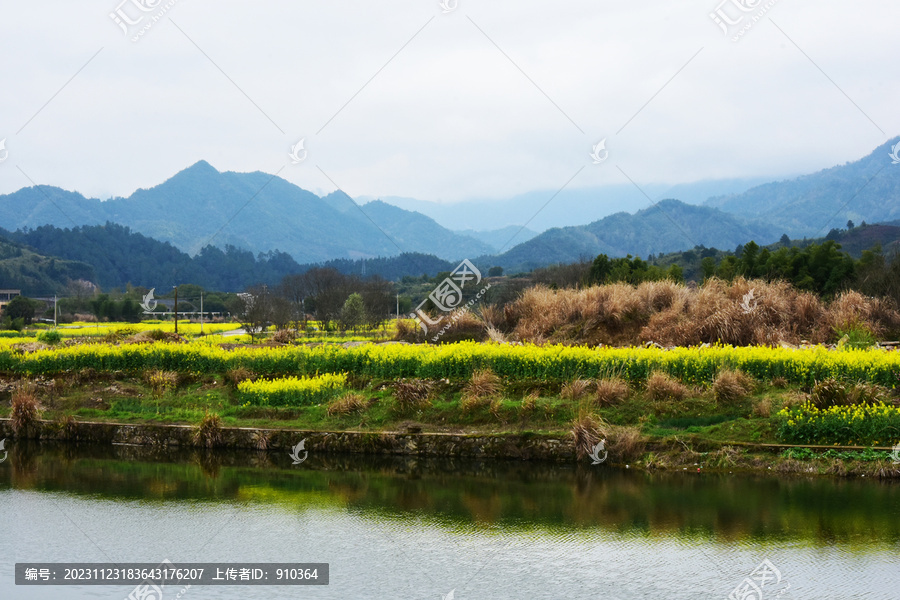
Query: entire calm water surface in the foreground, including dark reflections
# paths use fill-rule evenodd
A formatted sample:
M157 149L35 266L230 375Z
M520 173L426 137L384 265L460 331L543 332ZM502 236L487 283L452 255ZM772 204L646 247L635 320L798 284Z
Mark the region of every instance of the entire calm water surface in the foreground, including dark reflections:
M15 562L327 562L328 587L205 598L900 598L900 484L515 462L172 453L7 443L0 599ZM757 576L754 581L758 582ZM742 600L759 600L746 587ZM164 600L179 589L168 588Z

